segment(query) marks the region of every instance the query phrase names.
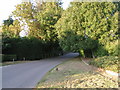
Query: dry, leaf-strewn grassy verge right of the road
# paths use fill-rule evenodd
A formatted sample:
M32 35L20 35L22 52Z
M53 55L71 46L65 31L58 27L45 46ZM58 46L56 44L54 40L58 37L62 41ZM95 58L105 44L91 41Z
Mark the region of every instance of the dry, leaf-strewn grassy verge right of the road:
M118 88L118 82L101 76L96 69L75 58L49 71L37 88Z

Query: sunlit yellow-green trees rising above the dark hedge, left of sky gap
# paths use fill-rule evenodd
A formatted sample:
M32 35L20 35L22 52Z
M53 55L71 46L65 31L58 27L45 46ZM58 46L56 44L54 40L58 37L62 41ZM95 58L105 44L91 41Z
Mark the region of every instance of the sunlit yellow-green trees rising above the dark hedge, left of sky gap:
M16 6L13 16L27 25L28 37L36 37L44 41L56 41L54 24L61 17L60 0L56 2L40 2L36 6L24 2Z

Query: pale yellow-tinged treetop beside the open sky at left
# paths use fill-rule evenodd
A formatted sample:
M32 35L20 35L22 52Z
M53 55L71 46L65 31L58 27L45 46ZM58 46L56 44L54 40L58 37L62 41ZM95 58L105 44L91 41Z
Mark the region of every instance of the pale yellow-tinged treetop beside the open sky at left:
M36 30L37 22L34 18L35 14L36 9L31 2L22 2L18 4L16 10L13 11L13 16L21 22L21 27L23 29L29 29L29 32L33 29Z

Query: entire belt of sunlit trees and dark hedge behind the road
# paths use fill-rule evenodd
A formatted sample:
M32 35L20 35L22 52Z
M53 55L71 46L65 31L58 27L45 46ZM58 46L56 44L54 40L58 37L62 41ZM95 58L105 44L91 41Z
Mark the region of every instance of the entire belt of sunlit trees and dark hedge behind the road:
M2 27L3 52L16 54L19 59L46 57L44 53L55 54L60 47L85 57L118 55L119 4L71 2L63 12L60 2L18 4L12 14L15 20L5 20ZM28 27L27 38L19 38L23 26Z

